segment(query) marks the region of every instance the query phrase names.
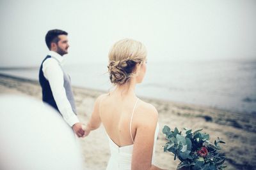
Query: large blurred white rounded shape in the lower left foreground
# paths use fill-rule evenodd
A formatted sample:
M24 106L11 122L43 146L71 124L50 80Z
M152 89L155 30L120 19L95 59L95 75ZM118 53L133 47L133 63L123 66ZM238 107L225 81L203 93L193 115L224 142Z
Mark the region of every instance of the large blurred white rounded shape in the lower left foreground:
M1 170L80 170L82 155L72 129L42 101L0 96Z

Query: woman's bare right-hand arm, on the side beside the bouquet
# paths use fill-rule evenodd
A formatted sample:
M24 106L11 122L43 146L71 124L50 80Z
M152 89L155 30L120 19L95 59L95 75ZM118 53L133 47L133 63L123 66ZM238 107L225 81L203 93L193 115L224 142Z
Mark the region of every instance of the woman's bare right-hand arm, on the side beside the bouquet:
M149 104L136 115L134 123L137 128L132 152L132 170L162 170L151 164L157 119L156 108Z

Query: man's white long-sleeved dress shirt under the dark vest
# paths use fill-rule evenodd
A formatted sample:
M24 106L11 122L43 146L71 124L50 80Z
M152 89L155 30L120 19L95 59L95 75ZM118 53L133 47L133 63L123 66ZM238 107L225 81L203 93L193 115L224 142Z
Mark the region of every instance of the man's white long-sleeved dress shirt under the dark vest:
M63 71L60 66L60 64L63 62L63 57L53 51L50 51L49 55L51 55L51 58L44 61L42 71L45 78L49 81L52 90L52 96L56 101L61 115L67 124L72 127L72 125L79 122L79 120L72 110L72 106L70 105L66 96Z

